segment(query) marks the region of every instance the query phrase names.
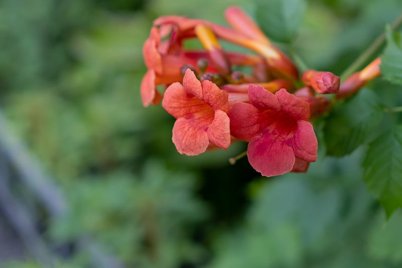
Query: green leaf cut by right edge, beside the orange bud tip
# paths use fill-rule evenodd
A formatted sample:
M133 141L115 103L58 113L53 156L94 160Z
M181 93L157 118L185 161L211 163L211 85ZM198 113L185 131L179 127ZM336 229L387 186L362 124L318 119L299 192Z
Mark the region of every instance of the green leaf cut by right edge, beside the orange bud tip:
M402 84L402 47L401 38L389 25L385 28L387 45L381 56L381 73L383 77L396 84Z

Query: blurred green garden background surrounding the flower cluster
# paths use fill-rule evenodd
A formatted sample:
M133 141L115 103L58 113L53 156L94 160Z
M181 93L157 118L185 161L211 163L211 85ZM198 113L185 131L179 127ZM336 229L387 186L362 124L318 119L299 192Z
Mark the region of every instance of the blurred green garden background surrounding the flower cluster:
M142 106L154 19L226 25L229 5L254 16L261 4L0 1L1 267L402 266L402 213L386 221L367 191L364 148L332 158L320 141L308 173L266 178L247 158L229 164L245 143L180 155L174 119ZM308 1L294 50L340 74L401 11L399 0Z

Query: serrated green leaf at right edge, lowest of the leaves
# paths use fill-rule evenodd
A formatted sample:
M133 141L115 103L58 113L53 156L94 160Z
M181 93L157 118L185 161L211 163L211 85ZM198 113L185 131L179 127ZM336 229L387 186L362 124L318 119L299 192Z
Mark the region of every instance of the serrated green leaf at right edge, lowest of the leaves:
M363 168L368 189L379 198L389 218L402 207L402 125L369 144Z

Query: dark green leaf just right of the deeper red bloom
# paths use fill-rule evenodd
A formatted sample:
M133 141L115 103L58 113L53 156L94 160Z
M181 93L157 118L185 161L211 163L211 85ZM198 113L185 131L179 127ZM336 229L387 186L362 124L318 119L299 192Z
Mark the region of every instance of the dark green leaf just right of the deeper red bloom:
M327 153L343 156L364 144L382 118L378 97L367 88L338 105L324 127Z

